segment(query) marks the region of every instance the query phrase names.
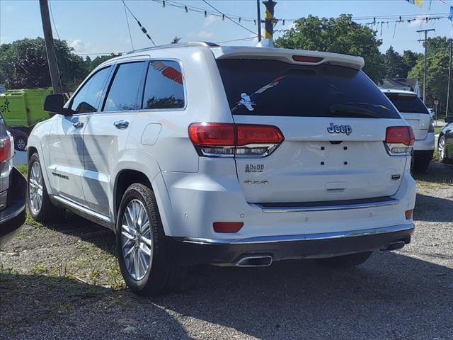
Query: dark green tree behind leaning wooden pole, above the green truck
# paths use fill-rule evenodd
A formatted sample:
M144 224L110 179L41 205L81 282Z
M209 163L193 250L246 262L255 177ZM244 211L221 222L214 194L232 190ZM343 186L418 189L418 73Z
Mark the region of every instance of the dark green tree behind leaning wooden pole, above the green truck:
M73 50L66 40L55 40L64 91L70 91L87 73L83 58L74 55ZM0 77L8 89L51 86L44 39L23 39L1 45Z

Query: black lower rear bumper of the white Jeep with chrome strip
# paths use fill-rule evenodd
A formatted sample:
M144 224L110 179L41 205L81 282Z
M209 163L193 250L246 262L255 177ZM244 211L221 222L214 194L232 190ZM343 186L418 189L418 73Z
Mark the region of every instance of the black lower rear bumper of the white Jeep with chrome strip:
M411 242L413 224L392 227L299 234L248 239L197 239L168 237L168 243L180 261L191 265L211 263L234 266L249 256L271 256L273 261L284 259L316 259L386 250L395 242Z

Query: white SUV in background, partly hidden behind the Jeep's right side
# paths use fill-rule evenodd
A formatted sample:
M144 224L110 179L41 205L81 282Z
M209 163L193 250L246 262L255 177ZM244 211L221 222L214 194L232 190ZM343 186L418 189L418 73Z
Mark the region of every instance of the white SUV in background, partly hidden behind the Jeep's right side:
M430 109L420 97L411 91L382 89L398 109L401 116L411 125L415 135L413 144L413 171L425 172L434 154L434 119Z

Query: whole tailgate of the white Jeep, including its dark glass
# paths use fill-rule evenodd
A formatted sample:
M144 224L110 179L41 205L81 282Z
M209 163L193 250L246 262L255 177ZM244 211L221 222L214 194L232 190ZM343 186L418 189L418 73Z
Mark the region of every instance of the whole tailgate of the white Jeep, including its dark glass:
M360 67L321 59L218 58L234 122L275 125L285 138L267 157L236 155L249 203L360 200L398 190L406 157L390 156L384 140L386 128L406 123Z

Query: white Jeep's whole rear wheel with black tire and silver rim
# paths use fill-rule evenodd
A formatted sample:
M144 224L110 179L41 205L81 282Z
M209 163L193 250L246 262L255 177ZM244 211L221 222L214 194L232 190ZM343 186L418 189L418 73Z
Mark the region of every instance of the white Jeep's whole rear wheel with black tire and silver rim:
M122 276L135 293L168 293L185 274L166 242L154 193L143 184L132 184L122 196L116 244Z

